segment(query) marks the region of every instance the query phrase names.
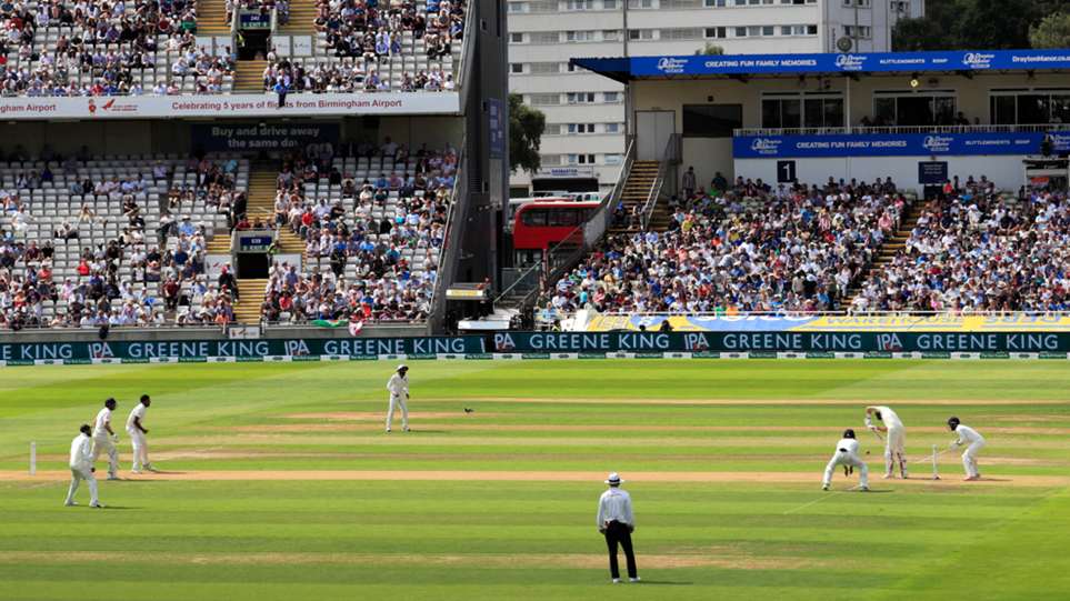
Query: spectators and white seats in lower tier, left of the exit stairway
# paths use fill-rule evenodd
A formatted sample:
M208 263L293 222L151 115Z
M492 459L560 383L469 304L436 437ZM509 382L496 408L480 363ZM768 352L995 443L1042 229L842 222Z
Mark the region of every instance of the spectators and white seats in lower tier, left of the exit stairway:
M19 147L9 160L54 168L64 181L20 176L0 190L0 329L162 325L167 311L180 324L233 319L230 291L204 273L206 223L150 204L163 199L147 191L167 190L178 161L143 161L137 178L93 186L79 174L87 166L130 161L97 161L86 147L66 160L46 147L36 161ZM186 200L228 193L220 167L206 156L197 163L201 183ZM230 174L229 161L221 169Z

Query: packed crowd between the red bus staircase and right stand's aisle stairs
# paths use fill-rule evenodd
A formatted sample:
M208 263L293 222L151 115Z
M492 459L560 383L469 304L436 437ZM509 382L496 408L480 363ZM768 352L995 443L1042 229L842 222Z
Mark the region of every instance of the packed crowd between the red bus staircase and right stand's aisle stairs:
M684 200L669 203L669 229L640 231L618 208L618 226L634 233L603 239L556 290L543 319L593 309L603 313L817 313L838 309L909 200L890 180L829 178L776 189L760 179L734 186L718 174L713 190L684 178ZM624 223L621 223L623 220Z

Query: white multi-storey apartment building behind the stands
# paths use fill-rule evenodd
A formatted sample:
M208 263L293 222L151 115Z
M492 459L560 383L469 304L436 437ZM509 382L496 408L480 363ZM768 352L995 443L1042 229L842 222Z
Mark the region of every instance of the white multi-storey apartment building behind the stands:
M624 152L624 87L573 58L890 52L891 29L924 14L923 0L507 0L509 90L547 116L542 171L510 190L612 186ZM843 42L840 42L843 43ZM532 182L532 179L536 181Z

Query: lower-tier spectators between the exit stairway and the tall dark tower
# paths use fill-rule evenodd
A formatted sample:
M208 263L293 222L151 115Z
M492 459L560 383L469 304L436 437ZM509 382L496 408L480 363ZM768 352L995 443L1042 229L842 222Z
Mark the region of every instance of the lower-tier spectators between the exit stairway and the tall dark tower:
M342 174L339 166L353 159L368 177ZM379 169L368 172L371 166ZM261 318L426 320L456 169L449 144L441 153L422 144L410 154L390 138L378 149L367 139L313 140L287 152L269 224L300 236L311 268L274 262Z

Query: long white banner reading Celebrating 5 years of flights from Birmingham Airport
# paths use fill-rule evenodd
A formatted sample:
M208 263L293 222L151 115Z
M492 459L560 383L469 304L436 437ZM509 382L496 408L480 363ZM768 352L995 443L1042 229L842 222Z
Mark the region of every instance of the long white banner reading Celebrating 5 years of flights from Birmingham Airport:
M4 119L182 119L390 114L456 114L457 92L291 94L279 108L276 94L122 96L0 98ZM251 149L249 149L251 150Z

